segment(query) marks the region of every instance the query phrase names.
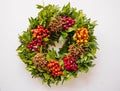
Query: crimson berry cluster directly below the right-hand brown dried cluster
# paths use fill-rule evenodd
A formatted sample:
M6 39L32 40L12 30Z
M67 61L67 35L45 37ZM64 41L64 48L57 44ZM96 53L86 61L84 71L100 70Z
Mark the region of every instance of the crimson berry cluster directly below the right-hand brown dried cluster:
M68 57L64 56L63 61L66 70L71 70L71 71L77 70L77 64L75 63L76 59L72 55L69 55Z

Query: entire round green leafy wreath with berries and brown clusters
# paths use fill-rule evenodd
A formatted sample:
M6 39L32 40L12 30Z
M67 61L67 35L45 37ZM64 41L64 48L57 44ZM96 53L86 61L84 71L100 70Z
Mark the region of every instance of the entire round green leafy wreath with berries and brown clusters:
M78 72L88 72L98 49L96 22L70 3L61 9L51 4L37 8L40 12L29 18L30 25L19 35L21 45L17 48L32 77L40 77L50 86L76 78ZM58 52L50 48L55 42L63 43Z

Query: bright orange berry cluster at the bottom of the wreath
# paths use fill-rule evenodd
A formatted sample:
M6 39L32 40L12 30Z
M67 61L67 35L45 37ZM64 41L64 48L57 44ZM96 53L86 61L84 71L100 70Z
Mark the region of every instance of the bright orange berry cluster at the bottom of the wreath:
M63 74L62 68L56 60L50 61L47 67L50 69L51 75L54 77L61 76Z

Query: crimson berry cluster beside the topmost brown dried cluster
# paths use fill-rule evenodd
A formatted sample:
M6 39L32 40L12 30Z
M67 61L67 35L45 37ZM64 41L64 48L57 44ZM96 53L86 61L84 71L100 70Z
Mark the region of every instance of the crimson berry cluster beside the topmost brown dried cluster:
M62 22L63 22L63 28L68 30L69 27L72 27L74 25L75 20L73 20L71 17L63 17Z

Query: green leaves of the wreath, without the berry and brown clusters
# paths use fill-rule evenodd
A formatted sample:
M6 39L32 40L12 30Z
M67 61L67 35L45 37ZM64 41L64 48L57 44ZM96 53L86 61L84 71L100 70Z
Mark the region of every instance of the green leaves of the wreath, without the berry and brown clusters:
M37 5L37 8L40 10L36 18L29 18L29 27L27 31L24 31L22 35L19 35L19 40L21 45L17 48L18 56L26 64L26 69L31 72L32 77L41 77L42 83L47 83L48 86L51 86L51 83L58 84L59 82L64 83L64 81L69 81L71 78L76 78L78 72L88 72L90 67L93 67L95 64L93 60L96 58L95 54L98 49L97 39L94 35L94 28L97 25L96 21L91 21L90 18L87 18L82 10L77 10L70 6L70 3L65 5L61 10L56 5ZM43 38L45 42L45 47L40 47L40 53L45 53L46 60L49 62L52 59L58 60L62 66L63 75L60 77L53 77L50 75L49 71L45 71L37 68L33 64L33 57L38 53L35 51L30 51L27 48L27 45L34 38L32 37L31 29L37 28L38 25L43 25L49 29L49 23L57 15L72 17L75 20L75 24L72 27L69 27L68 30L64 30L59 33L50 32L50 38ZM75 32L78 28L85 27L88 29L89 39L86 45L82 45L85 50L84 54L79 57L76 61L78 65L78 70L67 71L64 68L63 56L69 55L68 49L71 44L76 44L73 40ZM55 45L54 42L62 41L64 44L62 48L59 49L58 54L54 49L48 50L48 47Z

